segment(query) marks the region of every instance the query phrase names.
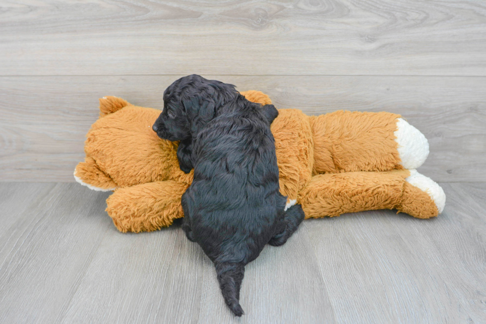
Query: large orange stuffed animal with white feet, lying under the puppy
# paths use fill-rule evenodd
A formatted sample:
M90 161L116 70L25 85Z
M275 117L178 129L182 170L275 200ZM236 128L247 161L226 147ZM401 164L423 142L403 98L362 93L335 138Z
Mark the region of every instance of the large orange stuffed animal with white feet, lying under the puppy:
M271 103L258 91L248 100ZM108 215L122 232L155 231L183 217L181 196L192 181L177 160L178 142L159 139L152 125L160 110L117 97L100 99L100 118L85 142L77 182L113 190ZM307 116L279 109L271 130L287 207L302 204L305 218L396 209L417 218L442 212L442 188L415 169L428 155L424 135L399 115L336 111Z

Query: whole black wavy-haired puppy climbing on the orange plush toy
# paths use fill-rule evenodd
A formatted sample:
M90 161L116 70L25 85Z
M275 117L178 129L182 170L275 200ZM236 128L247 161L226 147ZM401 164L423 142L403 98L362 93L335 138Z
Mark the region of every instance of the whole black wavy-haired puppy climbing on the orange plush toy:
M270 124L278 111L261 107L235 86L199 75L175 81L153 126L162 139L181 140L182 171L194 180L182 195L182 229L216 266L226 304L242 316L244 266L265 244L282 245L304 219L300 205L284 211Z

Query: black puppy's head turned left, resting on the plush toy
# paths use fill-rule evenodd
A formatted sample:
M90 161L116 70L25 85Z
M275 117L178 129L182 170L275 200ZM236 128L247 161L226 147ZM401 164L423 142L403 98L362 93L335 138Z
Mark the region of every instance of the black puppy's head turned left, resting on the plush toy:
M235 98L235 86L192 74L176 80L164 92L164 109L152 129L161 139L195 137L218 109Z

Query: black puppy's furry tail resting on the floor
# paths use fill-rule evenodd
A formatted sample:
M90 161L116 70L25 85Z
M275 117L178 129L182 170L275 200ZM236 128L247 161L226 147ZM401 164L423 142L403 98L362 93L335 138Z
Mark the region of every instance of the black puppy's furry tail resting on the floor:
M222 262L215 263L221 293L226 305L236 316L242 316L243 309L240 305L240 288L244 276L244 264Z

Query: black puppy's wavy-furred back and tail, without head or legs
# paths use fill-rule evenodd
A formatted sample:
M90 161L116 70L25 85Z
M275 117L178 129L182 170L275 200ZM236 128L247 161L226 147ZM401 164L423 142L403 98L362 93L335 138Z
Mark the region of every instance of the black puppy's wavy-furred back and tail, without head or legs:
M197 159L194 180L182 196L184 221L192 229L190 238L214 262L226 304L241 316L244 266L284 230L278 226L286 197L279 192L268 116L239 96L193 143Z

